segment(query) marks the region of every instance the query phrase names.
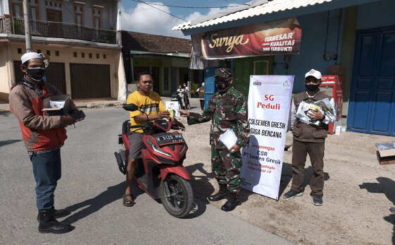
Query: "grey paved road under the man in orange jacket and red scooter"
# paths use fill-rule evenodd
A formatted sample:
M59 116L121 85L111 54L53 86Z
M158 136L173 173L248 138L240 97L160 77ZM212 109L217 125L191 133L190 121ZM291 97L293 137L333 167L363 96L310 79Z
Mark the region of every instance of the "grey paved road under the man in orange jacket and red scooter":
M0 244L290 244L195 199L190 218L176 219L147 194L133 208L121 204L123 180L116 168L121 108L85 109L87 119L68 128L56 207L73 213L68 234L39 234L35 182L12 114L0 112Z

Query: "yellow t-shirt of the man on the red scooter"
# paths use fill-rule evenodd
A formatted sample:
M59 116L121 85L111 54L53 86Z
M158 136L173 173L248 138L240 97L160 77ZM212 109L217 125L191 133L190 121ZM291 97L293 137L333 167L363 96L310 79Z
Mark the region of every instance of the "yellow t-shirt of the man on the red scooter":
M134 103L141 111L148 115L157 115L159 111L166 111L163 101L160 99L159 94L156 92L150 92L149 96L140 94L137 90L129 94L126 103ZM130 111L130 125L142 125L145 122L137 122L135 120L136 115L141 115L140 111ZM130 132L143 132L141 129L130 129Z

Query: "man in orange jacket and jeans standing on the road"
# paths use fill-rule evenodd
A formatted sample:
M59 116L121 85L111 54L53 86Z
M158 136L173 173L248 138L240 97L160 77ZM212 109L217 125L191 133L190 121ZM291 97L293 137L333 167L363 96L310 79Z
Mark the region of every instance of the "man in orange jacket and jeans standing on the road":
M54 191L61 178L61 153L67 136L65 127L76 120L71 115L47 116L42 111L44 99L61 94L56 87L44 80L45 56L34 52L21 56L20 69L25 74L23 80L11 89L10 109L18 118L23 142L32 161L36 181L37 209L39 211L39 232L66 233L73 230L71 225L58 222L70 214L66 210L54 209ZM72 104L72 110L78 111Z

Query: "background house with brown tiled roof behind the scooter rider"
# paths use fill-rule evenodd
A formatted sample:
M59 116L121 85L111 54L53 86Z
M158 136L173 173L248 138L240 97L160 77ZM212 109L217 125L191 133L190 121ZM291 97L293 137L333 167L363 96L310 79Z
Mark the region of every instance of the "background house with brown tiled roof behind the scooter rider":
M189 39L123 31L122 44L129 92L137 89L135 81L142 71L152 74L153 89L161 96L171 96L183 82L203 82L202 71L189 69Z

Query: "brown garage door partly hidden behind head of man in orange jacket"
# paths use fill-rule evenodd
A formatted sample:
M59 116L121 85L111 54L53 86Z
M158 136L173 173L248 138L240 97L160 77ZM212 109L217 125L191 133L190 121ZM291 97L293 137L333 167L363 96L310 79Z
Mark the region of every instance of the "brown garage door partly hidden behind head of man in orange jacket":
M23 79L23 73L19 68L20 64L20 61L13 61L16 82L20 82ZM54 85L63 94L66 94L66 77L64 73L64 63L51 62L47 70L45 70L47 82Z

